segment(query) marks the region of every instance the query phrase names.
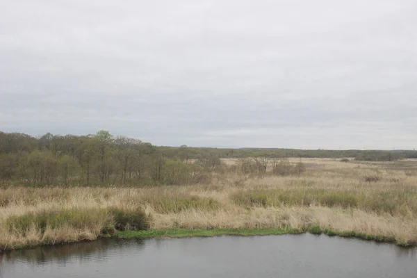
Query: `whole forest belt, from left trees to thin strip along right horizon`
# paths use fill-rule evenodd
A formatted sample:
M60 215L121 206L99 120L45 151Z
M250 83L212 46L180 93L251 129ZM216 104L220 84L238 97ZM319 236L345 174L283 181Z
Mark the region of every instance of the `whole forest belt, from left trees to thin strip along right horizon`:
M416 151L325 149L217 149L163 147L98 131L88 136L33 137L0 131L0 182L38 185L199 183L221 170L220 158L354 158L395 161ZM212 176L212 175L211 175Z

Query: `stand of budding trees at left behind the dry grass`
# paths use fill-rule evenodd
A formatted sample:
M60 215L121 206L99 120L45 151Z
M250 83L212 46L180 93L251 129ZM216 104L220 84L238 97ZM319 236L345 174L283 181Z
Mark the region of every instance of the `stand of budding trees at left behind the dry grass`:
M108 131L39 138L0 133L0 179L28 185L190 183L198 165L164 156L150 143ZM193 181L194 182L194 181Z

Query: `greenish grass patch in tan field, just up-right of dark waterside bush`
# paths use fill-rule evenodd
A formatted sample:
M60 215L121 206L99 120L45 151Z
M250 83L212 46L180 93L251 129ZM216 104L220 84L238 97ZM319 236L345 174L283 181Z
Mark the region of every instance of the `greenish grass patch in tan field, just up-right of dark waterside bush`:
M145 199L157 213L179 213L190 209L200 211L217 211L222 203L211 197L197 197L188 195L162 195Z

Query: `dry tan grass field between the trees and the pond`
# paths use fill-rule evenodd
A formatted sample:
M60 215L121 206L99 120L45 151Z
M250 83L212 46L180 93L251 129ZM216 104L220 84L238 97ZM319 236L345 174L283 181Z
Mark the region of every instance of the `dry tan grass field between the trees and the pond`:
M236 159L223 163L226 170L207 184L3 188L0 249L94 240L114 228L160 236L173 229L328 231L417 243L416 160L303 158L301 174L273 175L268 166L261 177L229 170Z

